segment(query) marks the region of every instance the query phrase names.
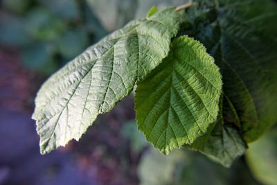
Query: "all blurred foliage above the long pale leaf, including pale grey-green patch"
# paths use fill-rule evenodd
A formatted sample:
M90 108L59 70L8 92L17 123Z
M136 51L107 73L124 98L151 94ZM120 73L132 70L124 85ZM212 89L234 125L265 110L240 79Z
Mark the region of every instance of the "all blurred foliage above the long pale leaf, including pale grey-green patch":
M50 75L148 10L186 0L2 0L0 46L17 48L30 70Z

